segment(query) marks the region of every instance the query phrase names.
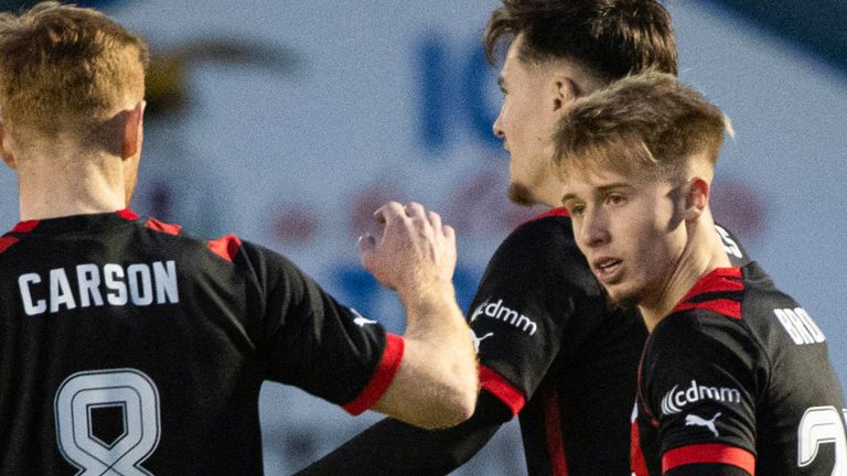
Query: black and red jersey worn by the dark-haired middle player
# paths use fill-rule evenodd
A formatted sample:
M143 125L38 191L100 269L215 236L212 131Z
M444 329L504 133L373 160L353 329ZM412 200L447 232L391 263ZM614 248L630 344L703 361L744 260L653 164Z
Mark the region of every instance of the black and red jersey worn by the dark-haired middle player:
M748 262L717 229L728 256ZM468 317L483 390L518 414L530 476L630 476L641 315L613 307L556 208L492 257Z

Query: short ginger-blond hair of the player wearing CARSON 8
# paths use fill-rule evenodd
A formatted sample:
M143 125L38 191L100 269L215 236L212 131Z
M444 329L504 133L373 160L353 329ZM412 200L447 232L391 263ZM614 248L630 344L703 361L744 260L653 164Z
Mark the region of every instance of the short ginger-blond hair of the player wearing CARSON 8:
M0 13L0 113L18 140L93 132L143 98L148 64L146 42L96 10Z

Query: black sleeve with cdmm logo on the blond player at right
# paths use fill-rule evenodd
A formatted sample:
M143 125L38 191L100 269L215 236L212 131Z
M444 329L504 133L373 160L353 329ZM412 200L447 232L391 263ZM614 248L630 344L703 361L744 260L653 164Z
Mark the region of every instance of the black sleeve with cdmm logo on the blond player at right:
M662 473L752 475L768 372L746 327L714 311L677 312L656 327L644 358L641 398L657 425Z

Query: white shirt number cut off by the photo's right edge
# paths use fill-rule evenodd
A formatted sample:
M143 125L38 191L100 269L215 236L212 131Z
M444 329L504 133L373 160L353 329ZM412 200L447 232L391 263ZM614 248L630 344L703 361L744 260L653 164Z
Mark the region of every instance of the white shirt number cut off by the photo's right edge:
M835 407L813 407L803 414L797 429L797 465L808 466L817 457L817 450L823 443L835 443L835 467L832 476L847 476L847 435L844 420Z

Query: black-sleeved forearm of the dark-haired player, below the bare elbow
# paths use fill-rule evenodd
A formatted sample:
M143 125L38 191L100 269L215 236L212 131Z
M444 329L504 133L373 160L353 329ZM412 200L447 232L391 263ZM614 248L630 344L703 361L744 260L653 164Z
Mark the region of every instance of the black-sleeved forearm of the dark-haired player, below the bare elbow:
M422 430L386 419L297 475L444 475L473 457L508 416L482 392L473 416L451 429Z

